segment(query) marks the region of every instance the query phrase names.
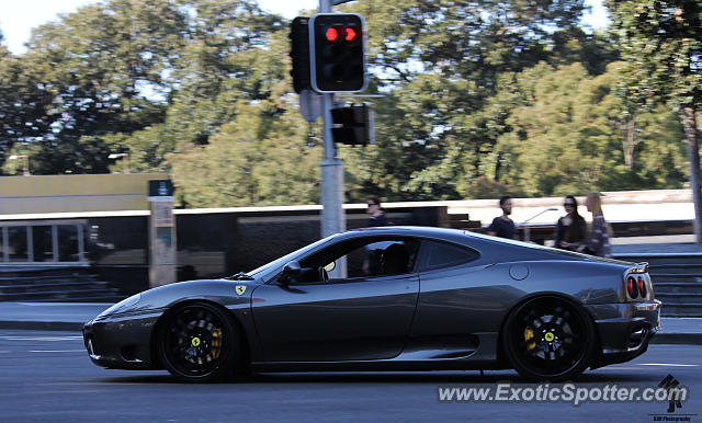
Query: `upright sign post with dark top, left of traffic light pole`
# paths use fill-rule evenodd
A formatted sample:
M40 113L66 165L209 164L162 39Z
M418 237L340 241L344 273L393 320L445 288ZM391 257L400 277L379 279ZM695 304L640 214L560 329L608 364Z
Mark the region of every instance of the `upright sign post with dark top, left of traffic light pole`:
M173 184L169 180L149 181L149 286L177 281L176 219Z

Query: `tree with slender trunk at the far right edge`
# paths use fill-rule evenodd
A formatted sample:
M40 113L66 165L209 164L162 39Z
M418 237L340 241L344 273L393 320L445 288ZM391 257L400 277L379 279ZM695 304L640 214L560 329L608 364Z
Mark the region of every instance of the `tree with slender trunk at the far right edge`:
M690 161L694 232L702 242L698 113L702 104L702 3L609 0L612 31L627 61L626 85L642 105L667 103L680 114Z

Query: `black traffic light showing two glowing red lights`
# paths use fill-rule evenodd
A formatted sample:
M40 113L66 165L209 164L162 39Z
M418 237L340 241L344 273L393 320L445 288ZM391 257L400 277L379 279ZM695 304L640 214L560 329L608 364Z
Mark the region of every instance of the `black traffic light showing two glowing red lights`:
M312 88L317 92L365 89L363 18L320 13L309 20Z

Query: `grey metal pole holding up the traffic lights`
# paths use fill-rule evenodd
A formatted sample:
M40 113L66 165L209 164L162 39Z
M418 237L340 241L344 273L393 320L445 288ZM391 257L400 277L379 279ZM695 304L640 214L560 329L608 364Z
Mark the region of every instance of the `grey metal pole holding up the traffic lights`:
M331 13L331 1L319 0L319 12ZM321 160L321 236L328 237L343 232L347 228L343 215L343 164L337 157L337 146L331 136L331 107L333 94L321 94L321 117L324 121L325 156ZM346 261L340 261L337 267L329 272L330 277L346 277Z

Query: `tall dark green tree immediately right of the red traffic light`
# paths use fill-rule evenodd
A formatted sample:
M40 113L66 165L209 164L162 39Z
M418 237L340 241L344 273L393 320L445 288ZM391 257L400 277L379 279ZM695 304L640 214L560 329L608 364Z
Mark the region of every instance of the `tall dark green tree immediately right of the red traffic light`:
M576 31L578 0L370 0L349 9L366 18L371 87L387 95L376 103L383 152L344 151L347 181L363 192L359 197L472 196L473 181L485 175L485 161L509 130L511 105L490 103L501 76L551 58L588 56L568 43L587 38ZM562 45L571 48L569 56L556 49ZM371 180L353 178L361 174Z

